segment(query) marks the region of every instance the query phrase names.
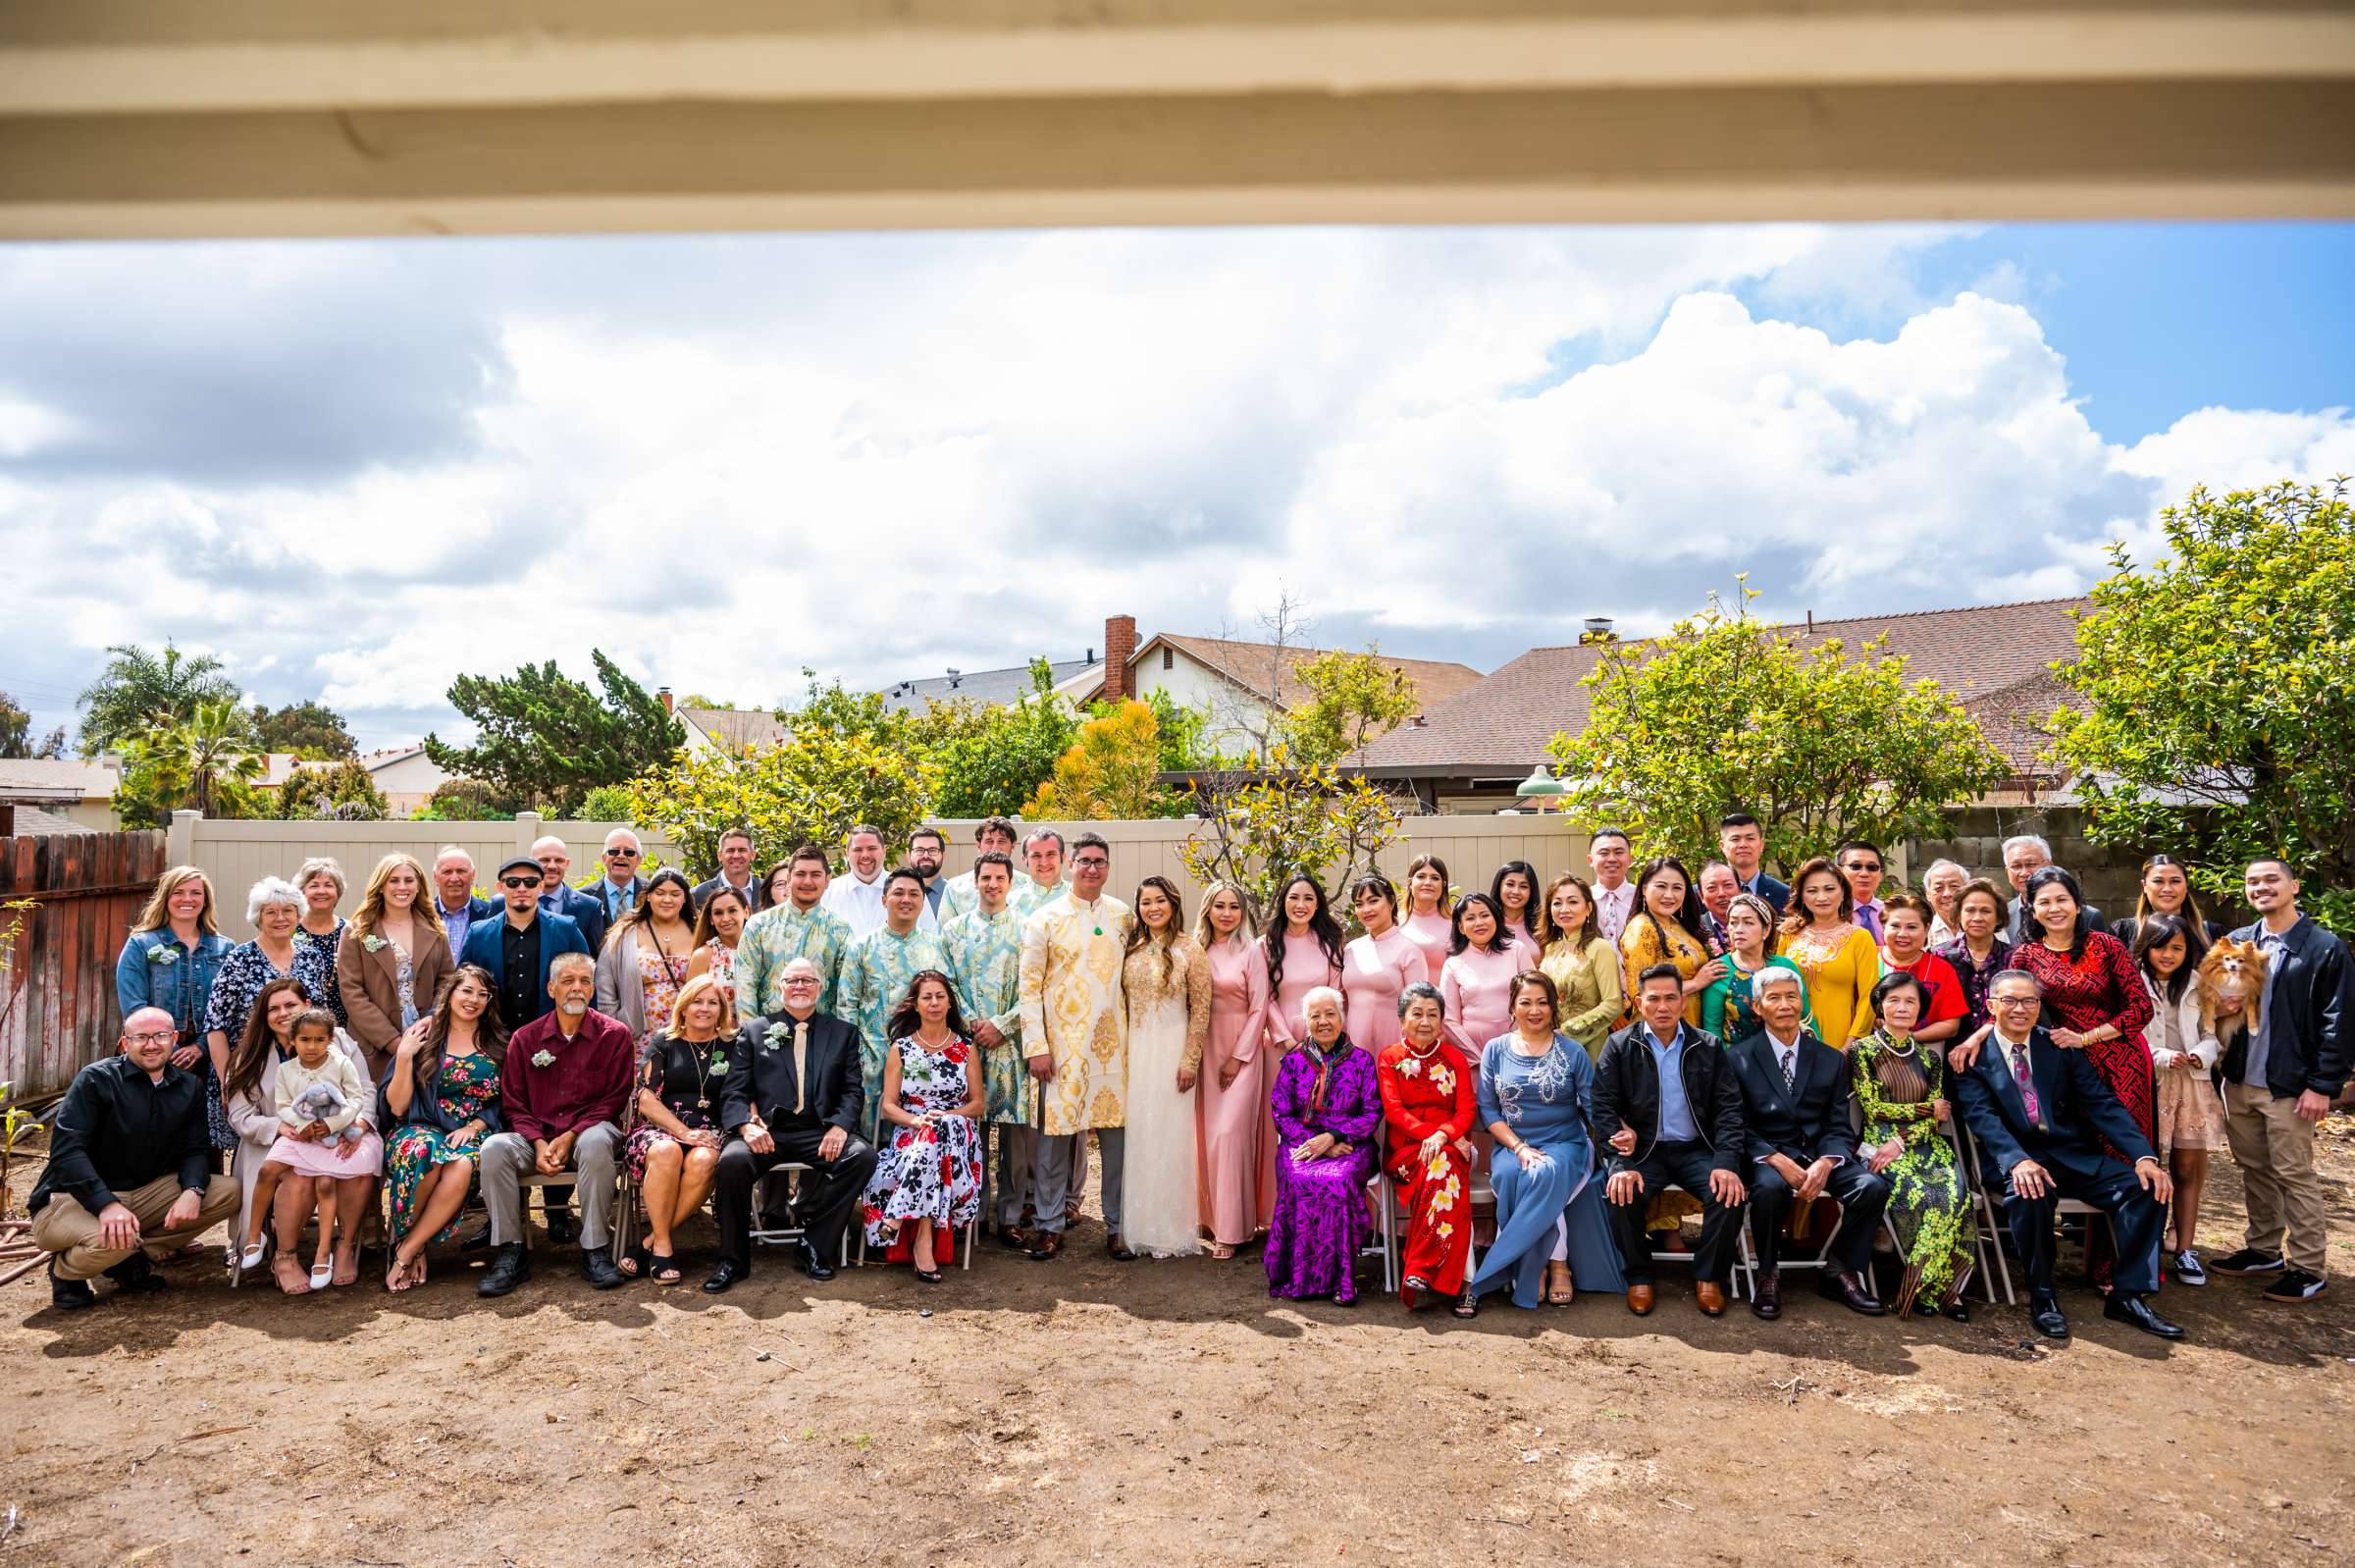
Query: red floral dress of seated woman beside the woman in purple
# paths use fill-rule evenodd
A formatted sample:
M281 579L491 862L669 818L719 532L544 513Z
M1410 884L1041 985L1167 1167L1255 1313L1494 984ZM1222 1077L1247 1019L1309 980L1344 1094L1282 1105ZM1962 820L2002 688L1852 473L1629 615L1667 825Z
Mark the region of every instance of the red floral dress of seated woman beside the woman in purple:
M1446 1041L1427 1057L1397 1041L1382 1048L1373 1069L1382 1085L1387 1132L1382 1170L1406 1210L1399 1297L1413 1307L1420 1290L1455 1295L1465 1285L1465 1262L1472 1255L1472 1161L1455 1140L1472 1130L1479 1102L1472 1067ZM1448 1142L1425 1158L1422 1140L1432 1132L1446 1132Z

